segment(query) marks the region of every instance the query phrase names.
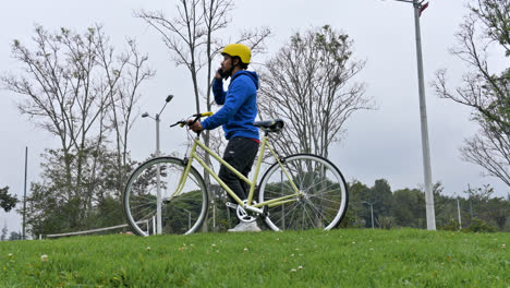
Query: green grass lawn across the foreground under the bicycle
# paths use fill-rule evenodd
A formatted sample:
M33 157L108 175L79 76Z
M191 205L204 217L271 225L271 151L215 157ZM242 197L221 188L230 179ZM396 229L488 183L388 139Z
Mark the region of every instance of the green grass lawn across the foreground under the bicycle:
M11 241L0 287L507 288L509 244L510 233L413 229Z

